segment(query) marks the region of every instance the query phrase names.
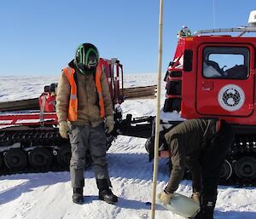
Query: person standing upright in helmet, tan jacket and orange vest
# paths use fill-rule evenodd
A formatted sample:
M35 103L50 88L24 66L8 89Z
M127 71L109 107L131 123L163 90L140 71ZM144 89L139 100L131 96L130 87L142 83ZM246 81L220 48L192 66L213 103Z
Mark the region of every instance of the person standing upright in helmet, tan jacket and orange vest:
M99 199L118 202L111 189L105 130L113 130L113 103L99 53L90 43L79 45L75 58L62 70L56 96L60 135L71 144L70 175L73 202L84 203L84 158L90 151Z

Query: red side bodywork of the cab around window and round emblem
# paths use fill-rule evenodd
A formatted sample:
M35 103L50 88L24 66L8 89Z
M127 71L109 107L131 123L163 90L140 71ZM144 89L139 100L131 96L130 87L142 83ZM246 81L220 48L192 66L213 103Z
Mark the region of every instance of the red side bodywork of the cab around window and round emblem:
M187 38L188 39L188 38ZM183 53L184 49L193 51L192 71L183 72L182 77L182 118L224 118L233 124L256 124L255 114L255 37L230 37L230 36L201 36L189 37L183 40L183 48L178 45L176 54ZM203 45L225 43L225 45L247 46L250 49L250 76L246 80L215 80L203 78L202 71L202 49ZM223 46L224 44L222 44ZM229 84L241 88L245 100L242 107L235 111L227 111L220 107L218 102L219 91Z

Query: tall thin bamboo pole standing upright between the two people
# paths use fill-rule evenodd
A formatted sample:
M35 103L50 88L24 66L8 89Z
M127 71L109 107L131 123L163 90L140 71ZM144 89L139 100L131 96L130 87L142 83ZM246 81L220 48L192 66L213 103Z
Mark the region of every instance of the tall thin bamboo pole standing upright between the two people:
M159 159L158 153L159 153L159 126L160 126L160 89L161 89L161 72L162 72L163 2L164 0L160 0L158 83L157 83L157 106L156 106L156 118L155 118L154 175L153 175L153 183L152 183L151 219L154 219L154 215L155 215L155 192L156 192L156 180L157 180L158 159Z

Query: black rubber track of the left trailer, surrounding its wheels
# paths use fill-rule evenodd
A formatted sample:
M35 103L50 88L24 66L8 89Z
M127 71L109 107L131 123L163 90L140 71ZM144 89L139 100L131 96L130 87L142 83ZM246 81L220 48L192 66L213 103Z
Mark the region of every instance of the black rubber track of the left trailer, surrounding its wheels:
M15 144L20 143L20 144ZM53 150L58 151L61 147L67 147L69 142L61 138L56 128L52 129L35 129L35 130L6 130L0 131L0 175L13 173L45 172L55 170L68 170L67 165L63 166L58 163ZM28 162L28 153L33 148L44 147L52 155L52 162L44 168L32 167ZM23 170L9 170L4 164L4 154L11 148L19 148L26 153L27 164Z

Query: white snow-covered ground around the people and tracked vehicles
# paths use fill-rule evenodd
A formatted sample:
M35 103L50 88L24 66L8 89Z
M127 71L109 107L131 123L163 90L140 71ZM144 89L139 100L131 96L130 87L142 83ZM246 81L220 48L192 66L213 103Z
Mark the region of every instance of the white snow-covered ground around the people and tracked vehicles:
M37 97L44 85L55 83L56 77L0 77L0 101ZM156 76L125 75L125 87L156 84ZM164 97L164 86L162 94ZM134 117L155 115L155 100L125 101L124 114ZM163 106L164 98L161 100ZM161 113L163 118L178 118L177 114ZM149 219L153 164L148 163L145 139L119 136L108 151L109 172L113 193L119 196L117 205L97 199L96 181L92 170L85 171L84 205L74 205L69 172L16 174L0 176L0 218L61 219ZM160 160L157 192L168 180L166 160ZM191 182L183 181L177 193L189 196ZM156 206L155 218L181 219ZM218 189L215 219L255 219L256 188L224 187Z

